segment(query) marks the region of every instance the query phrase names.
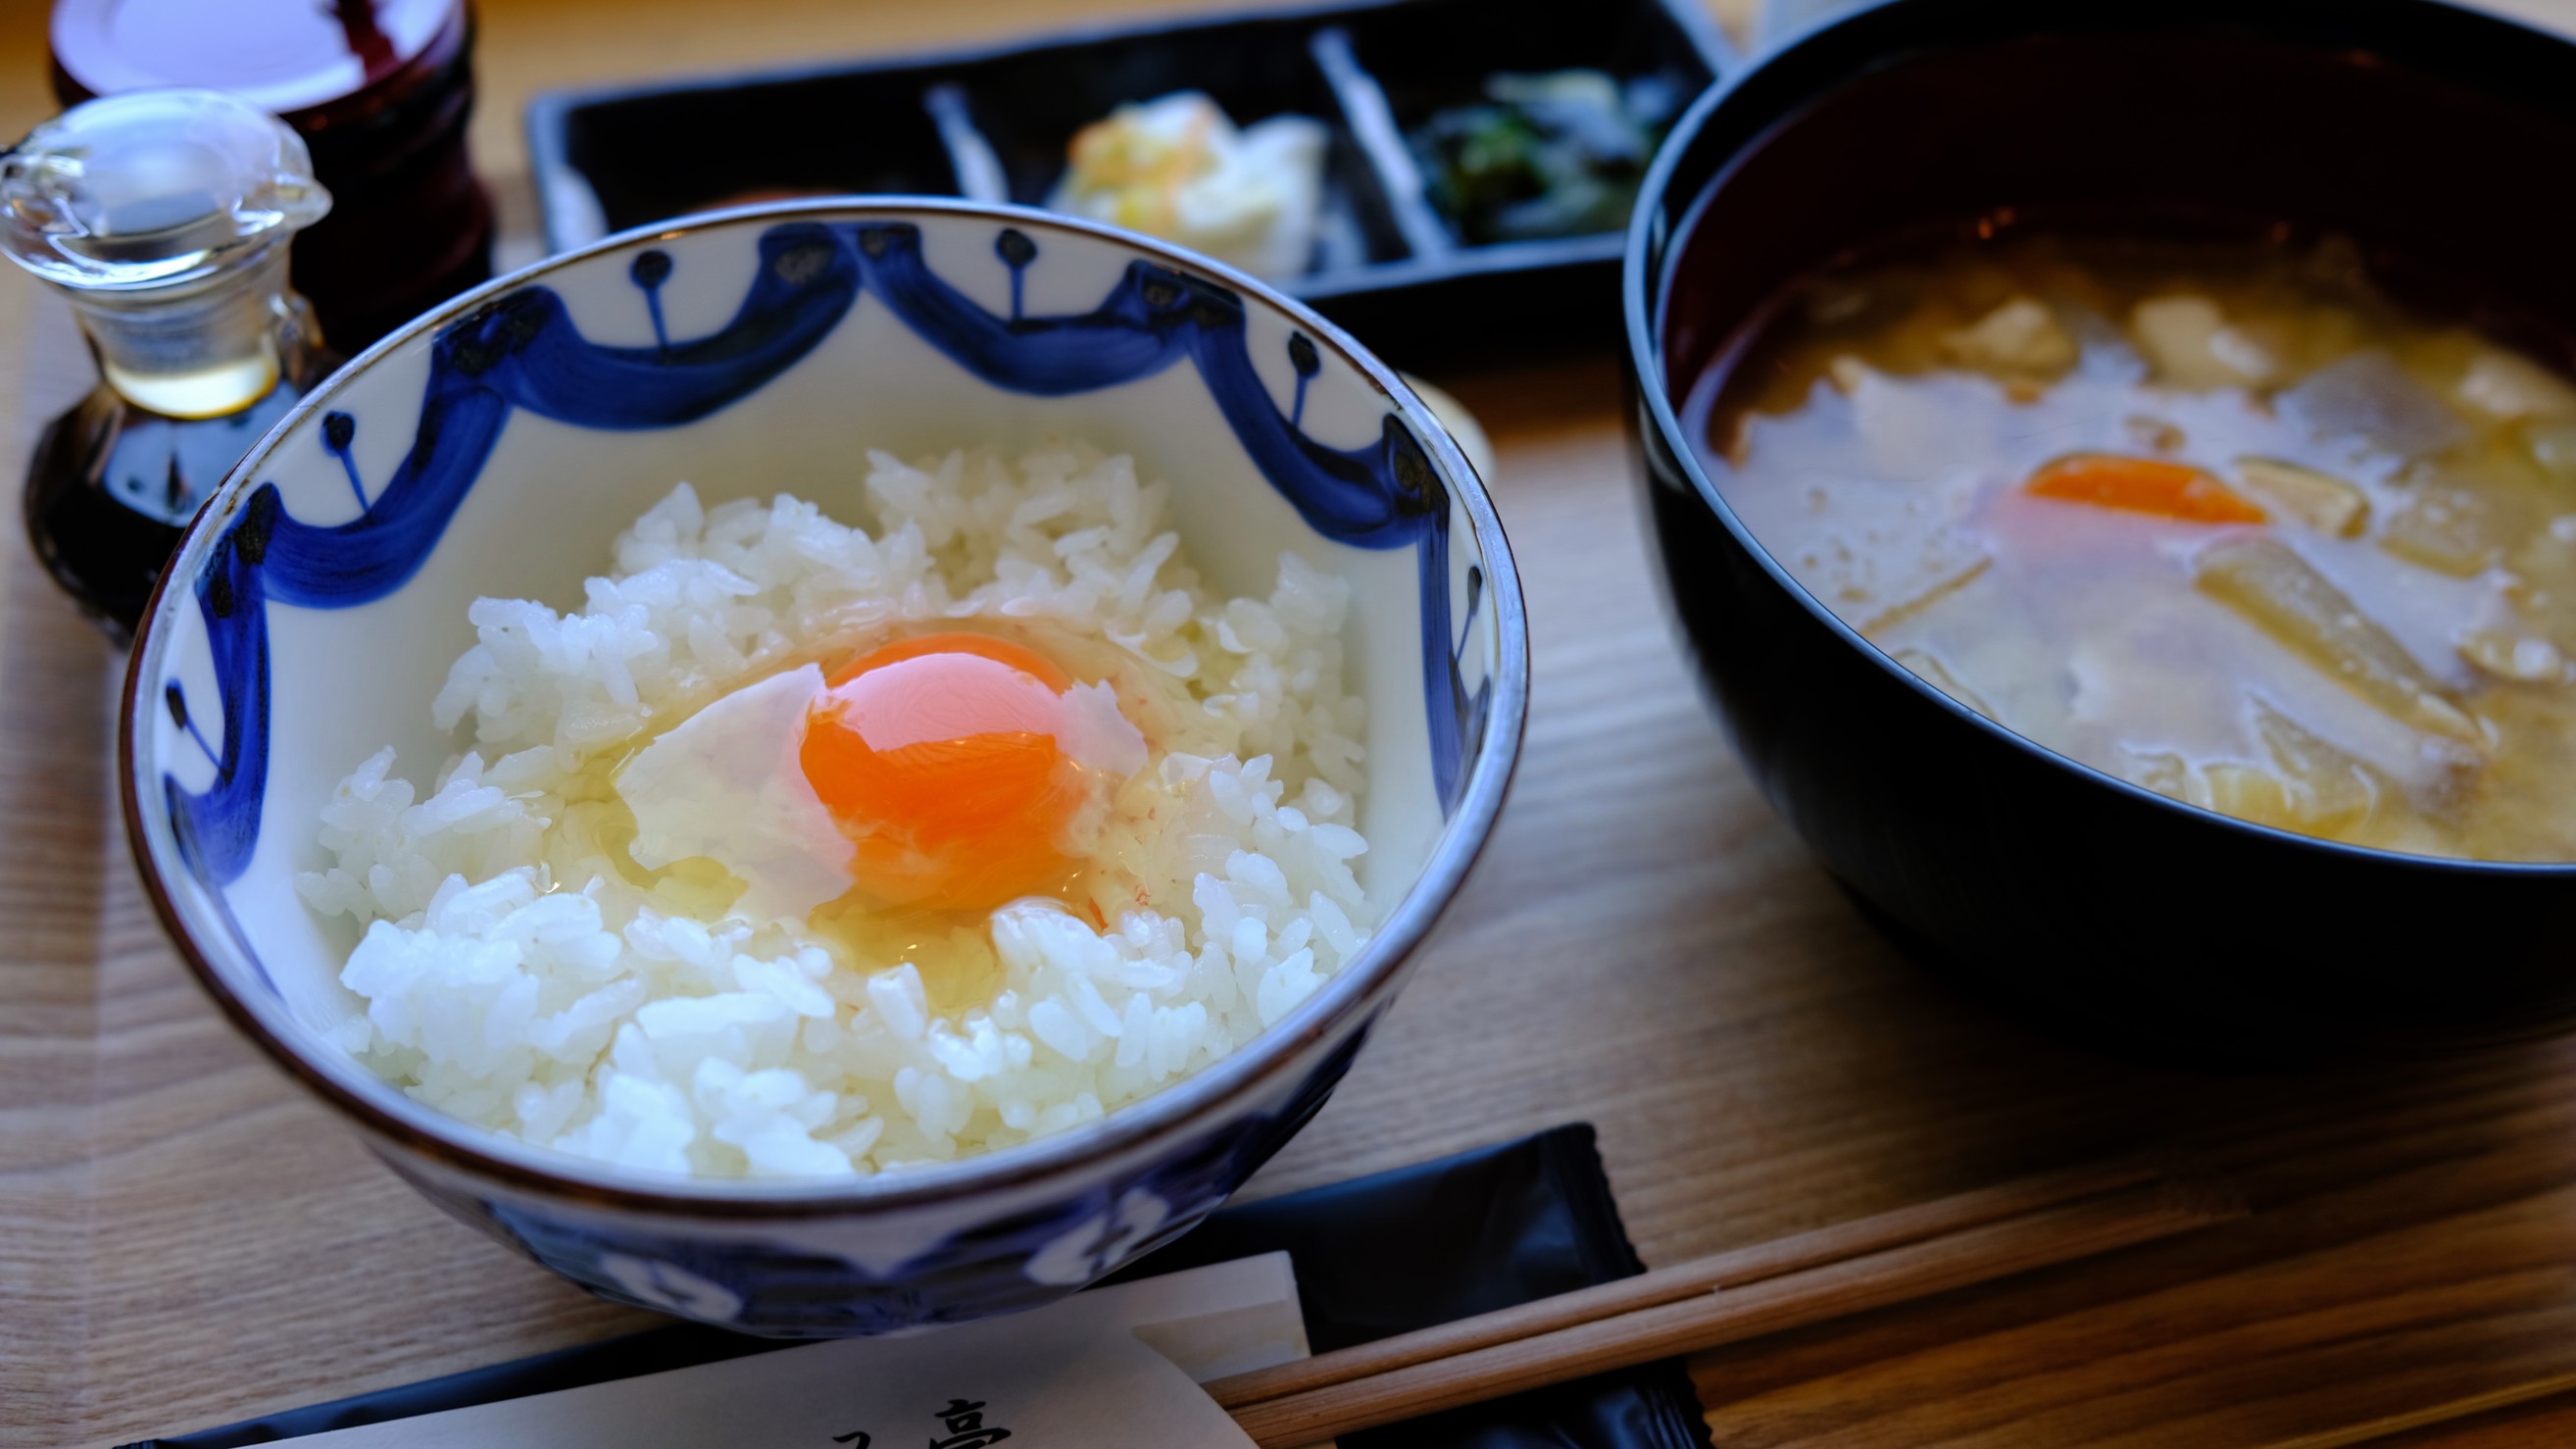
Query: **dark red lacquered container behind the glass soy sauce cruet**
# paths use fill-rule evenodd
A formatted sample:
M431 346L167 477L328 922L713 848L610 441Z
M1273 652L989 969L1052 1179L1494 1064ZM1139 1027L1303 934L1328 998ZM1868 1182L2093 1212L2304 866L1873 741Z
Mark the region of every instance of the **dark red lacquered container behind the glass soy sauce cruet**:
M209 85L304 137L332 211L296 237L294 286L335 351L492 276L466 0L54 0L52 44L64 106Z

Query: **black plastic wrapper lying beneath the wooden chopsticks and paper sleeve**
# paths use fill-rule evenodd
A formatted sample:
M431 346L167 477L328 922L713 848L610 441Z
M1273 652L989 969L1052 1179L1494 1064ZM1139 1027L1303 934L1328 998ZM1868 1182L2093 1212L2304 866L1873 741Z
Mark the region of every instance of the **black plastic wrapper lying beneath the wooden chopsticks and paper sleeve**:
M1618 1201L1571 1124L1301 1194L1229 1207L1108 1281L1285 1248L1316 1354L1641 1274ZM796 1348L693 1323L294 1408L124 1449L232 1449ZM1342 1449L1708 1449L1680 1361L1345 1434Z

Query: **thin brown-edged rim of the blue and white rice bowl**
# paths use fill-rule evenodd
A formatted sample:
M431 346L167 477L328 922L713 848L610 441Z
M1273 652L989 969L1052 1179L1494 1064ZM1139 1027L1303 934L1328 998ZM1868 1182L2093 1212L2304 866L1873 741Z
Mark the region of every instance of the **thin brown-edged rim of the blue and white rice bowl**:
M791 1178L778 1181L734 1181L734 1178L675 1178L667 1186L641 1186L618 1181L585 1181L580 1176L567 1176L544 1163L544 1158L562 1158L567 1165L580 1163L554 1152L551 1147L518 1145L497 1132L471 1127L459 1119L443 1119L438 1109L420 1106L422 1124L404 1122L394 1111L368 1101L350 1085L340 1083L332 1073L309 1062L294 1047L289 1047L268 1021L247 1006L216 972L209 954L198 946L193 926L185 920L180 905L173 900L173 890L162 877L160 861L149 846L155 825L147 822L142 810L142 792L137 776L137 732L139 732L139 688L147 673L147 663L157 665L165 652L162 627L165 614L173 614L173 603L165 598L170 580L180 578L183 565L196 562L209 547L211 536L219 534L222 523L242 505L250 492L250 480L263 469L268 456L283 443L283 438L296 431L304 418L325 407L348 379L358 376L374 361L389 356L392 351L435 333L448 320L461 317L492 297L528 286L549 273L564 271L574 263L590 260L603 253L616 253L636 242L654 237L677 237L688 232L706 232L716 227L734 227L747 222L775 222L796 217L884 217L904 219L920 214L961 217L961 219L987 219L1015 227L1043 227L1051 232L1072 232L1103 242L1113 242L1131 253L1141 253L1159 266L1175 271L1200 273L1221 286L1239 291L1247 302L1260 302L1278 309L1293 325L1303 327L1319 345L1332 348L1345 364L1352 366L1363 379L1376 387L1388 405L1414 428L1425 449L1437 456L1450 477L1450 490L1455 492L1468 523L1476 534L1481 549L1481 567L1486 578L1486 596L1494 601L1494 701L1486 719L1484 740L1476 755L1468 761L1466 786L1458 797L1458 810L1440 825L1432 841L1430 859L1422 871L1399 897L1394 913L1378 928L1376 936L1363 946L1360 959L1337 972L1324 990L1301 1003L1288 1021L1265 1029L1260 1036L1244 1047L1229 1052L1213 1065L1195 1075L1188 1075L1167 1088L1154 1091L1141 1101L1118 1106L1092 1122L1059 1132L1054 1137L1041 1137L1036 1142L1020 1142L1010 1147L997 1147L989 1152L976 1152L953 1163L935 1163L922 1168L907 1168L889 1181L886 1176L858 1178L855 1189L850 1181L835 1178L827 1189L796 1186ZM948 1201L956 1196L1010 1189L1041 1181L1059 1171L1079 1168L1082 1163L1110 1158L1144 1147L1157 1140L1180 1137L1195 1127L1206 1127L1218 1109L1260 1080L1270 1078L1288 1065L1291 1057L1321 1042L1334 1026L1342 1026L1363 1003L1386 985L1404 962L1422 946L1432 926L1455 900L1458 887L1466 882L1468 869L1484 853L1486 841L1494 833L1494 817L1502 812L1502 797L1510 789L1512 771L1520 763L1520 737L1530 701L1530 639L1528 616L1520 596L1520 570L1512 565L1510 544L1502 534L1502 518L1494 513L1494 500L1486 495L1484 480L1476 474L1466 454L1458 451L1455 438L1448 428L1422 405L1419 397L1396 376L1391 366L1365 353L1350 335L1314 315L1306 304L1293 297L1280 294L1270 284L1262 284L1242 271L1213 263L1195 253L1185 253L1154 237L1136 232L1123 232L1097 222L1084 222L1079 217L1056 217L1051 211L1038 211L1033 206L1005 206L1005 204L976 204L956 201L945 196L925 199L809 199L809 201L773 201L757 206L732 206L724 211L701 211L693 217L677 217L652 227L634 227L613 237L600 237L598 242L574 248L562 255L541 258L523 266L507 276L497 276L471 291L451 297L430 312L404 322L402 327L386 333L381 340L350 358L340 371L327 376L319 387L307 392L258 443L242 454L242 462L224 474L214 495L188 523L185 536L170 554L170 565L162 570L160 580L152 585L152 598L144 603L142 627L134 637L134 650L126 660L124 699L118 701L116 719L116 794L124 804L126 848L134 851L134 866L142 874L144 892L152 897L152 910L160 915L162 931L178 946L180 959L196 975L198 985L214 998L214 1003L232 1018L234 1029L260 1044L270 1060L299 1078L309 1091L337 1106L343 1114L353 1116L368 1132L386 1137L412 1152L438 1160L446 1168L464 1171L479 1178L489 1178L513 1189L538 1191L549 1196L574 1199L595 1207L636 1209L636 1212L662 1212L680 1217L726 1217L726 1220L786 1220L786 1217L845 1217L853 1212L891 1212L904 1207L922 1207L935 1201ZM204 887L219 890L219 887ZM353 1070L363 1073L350 1062ZM386 1083L386 1091L394 1091ZM433 1124L453 1124L453 1134L440 1132ZM510 1142L505 1152L487 1152L474 1142L474 1137L489 1137L495 1142ZM531 1160L515 1160L526 1152Z

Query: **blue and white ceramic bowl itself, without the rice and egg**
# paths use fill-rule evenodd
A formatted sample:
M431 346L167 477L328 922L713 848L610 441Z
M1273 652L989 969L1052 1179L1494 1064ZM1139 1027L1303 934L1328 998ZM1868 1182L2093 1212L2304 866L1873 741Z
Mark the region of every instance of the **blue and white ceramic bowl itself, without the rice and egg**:
M440 758L428 701L484 593L580 598L675 480L850 505L860 449L1048 433L1172 480L1226 590L1283 547L1355 588L1368 949L1236 1055L1059 1137L881 1178L618 1171L410 1101L327 1039L355 936L296 897L343 771ZM835 490L842 498L835 498ZM433 1201L582 1287L773 1336L1048 1302L1206 1217L1350 1067L1458 890L1520 748L1528 650L1494 505L1383 364L1144 237L943 201L636 232L374 345L234 469L126 686L126 828L214 998Z

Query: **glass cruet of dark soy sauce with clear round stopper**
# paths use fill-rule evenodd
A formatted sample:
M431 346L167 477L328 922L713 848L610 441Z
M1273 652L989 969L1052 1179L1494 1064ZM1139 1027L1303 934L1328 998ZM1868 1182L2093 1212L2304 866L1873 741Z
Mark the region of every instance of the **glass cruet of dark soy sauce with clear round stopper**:
M36 441L26 523L131 637L180 529L332 358L286 286L330 211L304 142L222 90L129 90L0 155L0 250L70 304L98 387Z

